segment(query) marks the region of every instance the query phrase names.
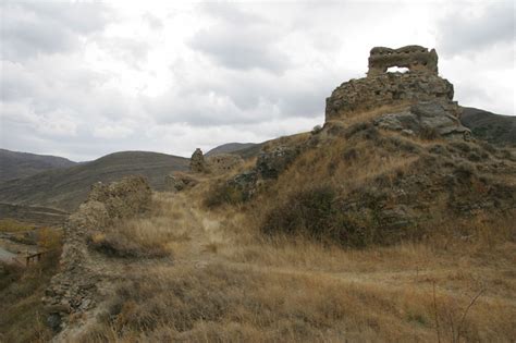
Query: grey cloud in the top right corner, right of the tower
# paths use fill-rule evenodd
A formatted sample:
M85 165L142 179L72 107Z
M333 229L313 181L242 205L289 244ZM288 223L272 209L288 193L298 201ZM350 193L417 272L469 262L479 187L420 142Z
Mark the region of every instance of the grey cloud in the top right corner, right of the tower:
M478 17L452 13L438 25L438 50L446 56L515 41L515 3L492 2Z

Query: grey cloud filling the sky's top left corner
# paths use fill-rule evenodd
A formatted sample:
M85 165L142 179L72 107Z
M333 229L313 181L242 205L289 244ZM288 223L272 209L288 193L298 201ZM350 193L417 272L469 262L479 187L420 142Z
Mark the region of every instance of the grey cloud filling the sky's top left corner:
M12 61L39 53L67 52L81 44L81 36L100 30L110 11L86 2L2 2L1 54Z

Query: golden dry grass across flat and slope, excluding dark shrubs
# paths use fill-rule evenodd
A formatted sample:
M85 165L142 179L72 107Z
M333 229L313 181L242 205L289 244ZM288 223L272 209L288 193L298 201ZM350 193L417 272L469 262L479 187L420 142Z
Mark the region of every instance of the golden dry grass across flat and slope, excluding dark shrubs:
M509 210L505 216L487 211L459 219L435 197L432 221L421 228L425 235L390 246L372 242L360 249L328 240L319 240L321 244L310 235L284 230L262 234L263 220L274 209L279 219L288 219L280 226L300 218L307 228L307 221L317 218L310 211L321 209L318 206L324 201L297 206L292 199L299 192L327 185L342 200L371 185L389 188L400 179L431 168L437 172L439 159L464 162L464 168L450 167L451 173L458 172L466 191L487 194L477 180L482 172L465 158L474 146L446 146L370 125L357 127L346 127L345 138L322 149L305 151L277 182L263 184L251 201L206 208L204 199L219 181L209 176L186 192L157 195L151 218L124 228L135 226L132 235L142 247L142 242L151 241L151 246L159 242L173 250L174 261L159 259L142 270L135 267L127 281L118 285L116 296L95 329L81 340L514 340L516 217ZM299 135L294 140L299 144L307 138ZM495 158L474 152L482 159ZM495 176L507 182L514 177ZM297 211L288 212L292 208L285 204ZM318 225L327 222L311 224L321 230Z

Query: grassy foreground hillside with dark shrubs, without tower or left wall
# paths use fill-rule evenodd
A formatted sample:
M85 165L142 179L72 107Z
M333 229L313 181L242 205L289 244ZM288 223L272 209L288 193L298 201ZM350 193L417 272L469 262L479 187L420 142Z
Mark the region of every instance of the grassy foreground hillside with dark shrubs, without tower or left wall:
M90 254L120 275L75 340L509 342L514 151L402 136L377 114L269 142L298 155L247 200L235 174L197 175L93 233L90 252L119 243ZM140 255L113 254L128 246Z

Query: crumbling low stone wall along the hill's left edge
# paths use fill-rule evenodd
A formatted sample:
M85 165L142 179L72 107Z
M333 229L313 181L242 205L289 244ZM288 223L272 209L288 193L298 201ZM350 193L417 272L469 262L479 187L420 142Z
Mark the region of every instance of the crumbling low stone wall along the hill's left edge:
M87 238L91 231L146 212L151 192L143 176L127 176L109 185L95 184L88 199L65 224L61 270L46 291L48 323L57 331L67 324L72 314L85 313L101 297L100 285L111 277L99 271L90 258Z

